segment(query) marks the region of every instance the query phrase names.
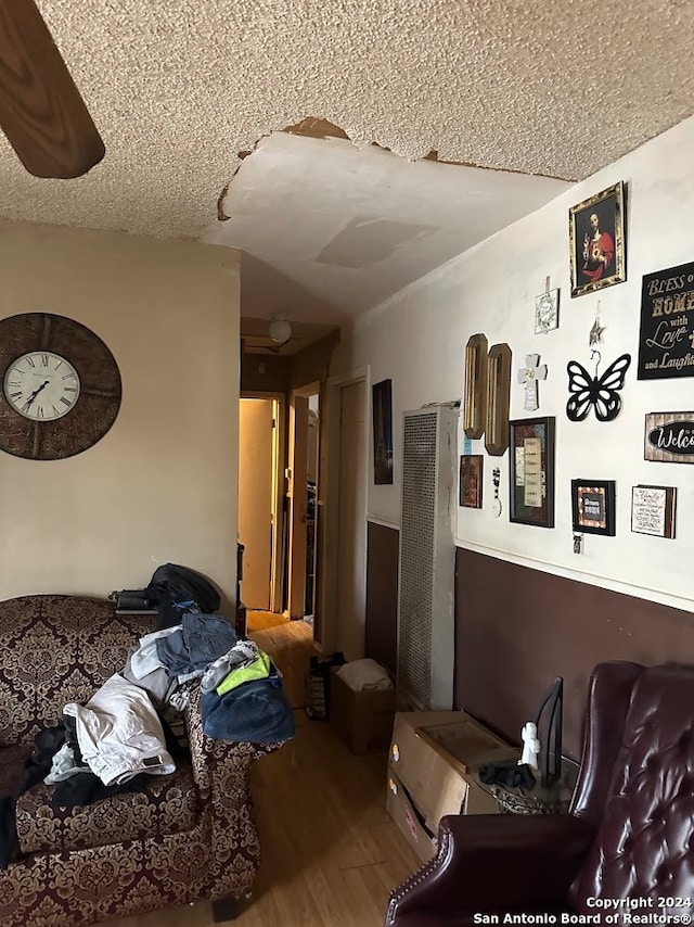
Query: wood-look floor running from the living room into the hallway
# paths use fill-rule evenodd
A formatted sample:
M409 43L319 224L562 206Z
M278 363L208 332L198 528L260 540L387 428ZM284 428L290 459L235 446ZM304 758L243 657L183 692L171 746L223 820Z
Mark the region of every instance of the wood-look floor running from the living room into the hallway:
M329 723L304 711L314 652L303 621L268 626L248 612L248 636L272 656L294 708L296 737L254 765L261 863L235 927L380 927L391 888L420 867L385 809L386 753L355 757ZM106 927L211 927L206 902L108 920Z

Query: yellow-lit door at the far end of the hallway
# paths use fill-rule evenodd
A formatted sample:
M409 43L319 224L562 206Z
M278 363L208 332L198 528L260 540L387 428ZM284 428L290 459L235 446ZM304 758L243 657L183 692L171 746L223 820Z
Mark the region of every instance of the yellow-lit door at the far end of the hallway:
M244 545L241 597L248 608L270 609L272 572L272 399L240 399L239 541Z

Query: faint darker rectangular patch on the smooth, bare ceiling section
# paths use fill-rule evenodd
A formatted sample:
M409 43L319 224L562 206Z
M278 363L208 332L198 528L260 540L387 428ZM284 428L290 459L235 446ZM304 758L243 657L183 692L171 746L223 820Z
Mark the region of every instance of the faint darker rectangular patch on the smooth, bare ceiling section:
M437 231L436 226L356 216L325 245L316 261L338 267L363 267L385 261L403 244L412 244Z

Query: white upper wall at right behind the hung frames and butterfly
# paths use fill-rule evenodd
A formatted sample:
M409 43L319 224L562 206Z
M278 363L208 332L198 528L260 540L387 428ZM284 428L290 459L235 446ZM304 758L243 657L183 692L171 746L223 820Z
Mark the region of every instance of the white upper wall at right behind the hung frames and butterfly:
M694 381L637 380L641 278L694 261L694 117L605 168L396 294L359 321L335 356L331 373L369 366L372 382L393 379L395 484L369 486L369 518L399 524L402 411L426 403L461 398L468 336L485 332L489 344L513 351L511 418L556 417L555 529L507 521L509 453L485 453L484 508L460 508L458 544L481 553L694 611L691 563L694 557L694 467L643 459L644 415L694 409ZM627 183L627 282L570 297L568 209L618 180ZM560 328L535 334L535 297L561 289ZM589 330L597 300L606 326L601 372L620 354L632 356L621 393L622 410L613 422L589 416L566 418L566 364L590 364ZM549 366L540 384L540 408L524 410L516 371L527 353ZM463 450L462 416L460 453ZM372 466L372 465L371 465ZM491 470L500 466L504 513L491 513ZM373 472L373 471L371 471ZM584 553L571 544L570 480L617 481L617 535L586 535ZM677 539L633 534L631 487L655 483L678 487Z

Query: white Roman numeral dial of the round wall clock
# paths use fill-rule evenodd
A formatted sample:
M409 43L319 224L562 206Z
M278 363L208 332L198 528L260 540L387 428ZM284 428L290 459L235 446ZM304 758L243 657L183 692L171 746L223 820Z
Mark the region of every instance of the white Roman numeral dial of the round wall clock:
M12 408L35 421L62 418L79 398L79 377L69 360L52 351L31 351L4 374L4 394Z

